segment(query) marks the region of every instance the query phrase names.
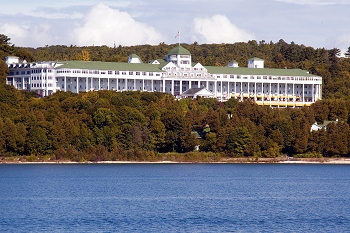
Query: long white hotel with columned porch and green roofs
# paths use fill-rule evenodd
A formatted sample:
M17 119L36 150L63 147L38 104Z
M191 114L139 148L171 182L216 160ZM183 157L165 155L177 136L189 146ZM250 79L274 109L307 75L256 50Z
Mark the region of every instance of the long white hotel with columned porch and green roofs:
M8 85L48 96L56 91L75 93L115 90L166 92L180 96L190 88L206 88L221 101L250 98L273 107L309 106L322 98L322 77L300 69L268 69L259 58L248 67L232 61L227 67L192 63L191 53L181 45L165 59L142 63L130 55L128 63L97 61L19 62L7 57Z

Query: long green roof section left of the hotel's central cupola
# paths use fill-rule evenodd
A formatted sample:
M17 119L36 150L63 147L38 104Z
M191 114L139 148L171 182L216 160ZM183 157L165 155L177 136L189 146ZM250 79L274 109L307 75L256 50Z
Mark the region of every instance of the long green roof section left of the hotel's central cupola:
M101 62L101 61L63 61L56 69L86 69L86 70L118 70L118 71L148 71L162 72L159 65L146 63Z

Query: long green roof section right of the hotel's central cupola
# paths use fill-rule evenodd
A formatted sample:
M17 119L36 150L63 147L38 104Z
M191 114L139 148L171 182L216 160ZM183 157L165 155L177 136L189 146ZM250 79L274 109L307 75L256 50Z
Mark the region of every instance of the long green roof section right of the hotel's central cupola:
M244 67L220 67L205 66L210 74L240 74L240 75L272 75L272 76L307 76L317 77L301 69L269 69L269 68L244 68Z

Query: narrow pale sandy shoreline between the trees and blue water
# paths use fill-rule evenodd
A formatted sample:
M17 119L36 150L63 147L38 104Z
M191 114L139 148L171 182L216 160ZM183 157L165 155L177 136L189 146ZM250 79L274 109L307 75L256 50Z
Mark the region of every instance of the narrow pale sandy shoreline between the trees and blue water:
M350 158L272 158L254 160L251 158L232 158L222 161L21 161L21 160L0 160L0 164L348 164Z

